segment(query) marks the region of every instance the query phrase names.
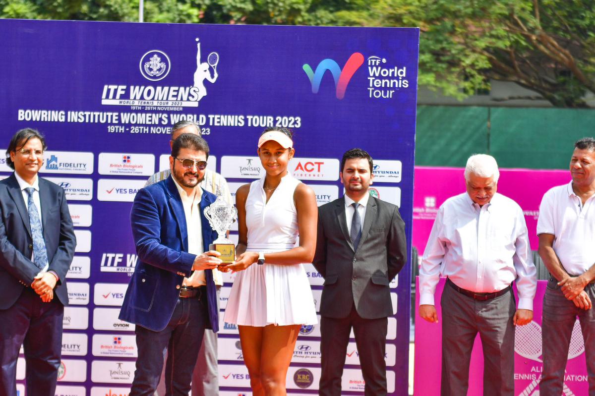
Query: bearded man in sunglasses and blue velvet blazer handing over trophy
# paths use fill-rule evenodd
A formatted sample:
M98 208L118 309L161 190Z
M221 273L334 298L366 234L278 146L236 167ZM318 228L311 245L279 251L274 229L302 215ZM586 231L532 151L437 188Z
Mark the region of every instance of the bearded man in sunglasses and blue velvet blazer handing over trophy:
M153 395L165 362L167 395L187 395L205 328L218 331L212 269L220 253L204 210L217 198L198 184L205 175L209 146L202 137L174 140L171 175L142 188L130 221L139 262L120 319L136 324L138 358L130 396Z

